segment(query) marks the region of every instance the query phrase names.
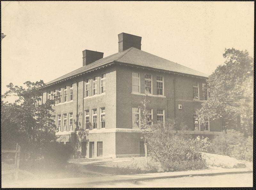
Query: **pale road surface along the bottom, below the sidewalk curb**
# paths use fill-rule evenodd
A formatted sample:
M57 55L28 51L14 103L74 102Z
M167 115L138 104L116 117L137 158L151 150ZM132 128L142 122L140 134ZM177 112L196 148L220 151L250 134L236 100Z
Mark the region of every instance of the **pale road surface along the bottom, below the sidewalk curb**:
M82 186L79 185L77 187ZM252 173L153 179L138 181L138 184L129 181L101 183L84 187L252 187Z

